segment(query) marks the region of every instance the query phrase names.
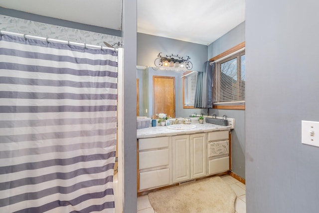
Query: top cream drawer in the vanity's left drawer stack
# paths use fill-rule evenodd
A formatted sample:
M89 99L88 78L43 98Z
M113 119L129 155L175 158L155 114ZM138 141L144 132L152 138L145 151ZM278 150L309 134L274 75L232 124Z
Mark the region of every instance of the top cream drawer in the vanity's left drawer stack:
M139 150L158 149L169 146L168 137L142 138L139 139Z

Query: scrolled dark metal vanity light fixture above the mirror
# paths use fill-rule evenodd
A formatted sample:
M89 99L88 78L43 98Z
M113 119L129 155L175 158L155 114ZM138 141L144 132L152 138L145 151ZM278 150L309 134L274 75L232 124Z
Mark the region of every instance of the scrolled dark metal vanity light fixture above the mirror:
M193 64L189 61L190 57L187 56L187 59L183 57L179 57L177 55L166 55L161 56L161 52L158 57L155 59L154 64L156 67L160 67L160 69L170 69L170 70L190 70L193 68Z

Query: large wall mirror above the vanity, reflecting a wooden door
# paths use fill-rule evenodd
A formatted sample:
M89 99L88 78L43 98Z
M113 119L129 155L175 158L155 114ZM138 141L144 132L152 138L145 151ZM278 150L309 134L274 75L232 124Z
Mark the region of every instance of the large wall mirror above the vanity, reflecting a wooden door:
M186 78L182 77L185 74L189 74L186 76L186 77L189 76L187 78L187 80L189 80L189 83L187 83L186 87L184 82L184 79ZM155 70L152 67L138 66L137 79L139 79L138 80L139 82L138 83L139 116L151 117L152 115L156 115L159 113L167 113L167 116L170 115L171 117L189 117L193 113L197 113L197 115L200 115L201 113L203 113L204 115L207 115L208 109L193 108L190 103L191 99L193 99L192 96L194 96L194 93L195 93L196 80L194 80L194 77L196 76L197 76L196 71L182 72L182 71L175 71L175 70L160 70L160 69ZM160 85L160 90L158 88L159 85ZM173 98L171 95L173 94L169 93L170 91L169 88L165 88L165 87L171 87L171 86L174 87L172 88L174 97L175 97L174 102L170 102ZM185 89L189 91L187 93L187 96L189 97L187 99L188 105L189 105L188 107L184 107L183 97L185 94L183 93ZM157 91L159 91L159 93L163 95L164 98L163 96L159 98L155 98L154 96L156 95ZM172 111L170 111L171 109L166 109L165 107L161 108L161 106L158 108L157 106L159 105L157 104L159 104L159 102L160 103L163 102L163 105L169 104L170 108L173 108L175 115Z

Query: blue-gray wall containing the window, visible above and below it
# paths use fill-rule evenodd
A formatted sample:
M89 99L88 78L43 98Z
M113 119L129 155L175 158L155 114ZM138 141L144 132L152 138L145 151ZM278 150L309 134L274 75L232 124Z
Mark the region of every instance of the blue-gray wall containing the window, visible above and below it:
M208 59L245 41L245 22L242 22L222 37L208 45ZM247 57L246 57L247 58ZM235 129L232 130L231 159L232 172L245 178L245 110L209 109L208 114L235 119Z

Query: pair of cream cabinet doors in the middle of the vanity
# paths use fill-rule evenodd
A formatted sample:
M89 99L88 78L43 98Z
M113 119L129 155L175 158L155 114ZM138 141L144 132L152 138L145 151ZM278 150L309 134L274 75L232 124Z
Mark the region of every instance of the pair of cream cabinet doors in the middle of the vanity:
M172 136L172 183L206 176L206 133Z

